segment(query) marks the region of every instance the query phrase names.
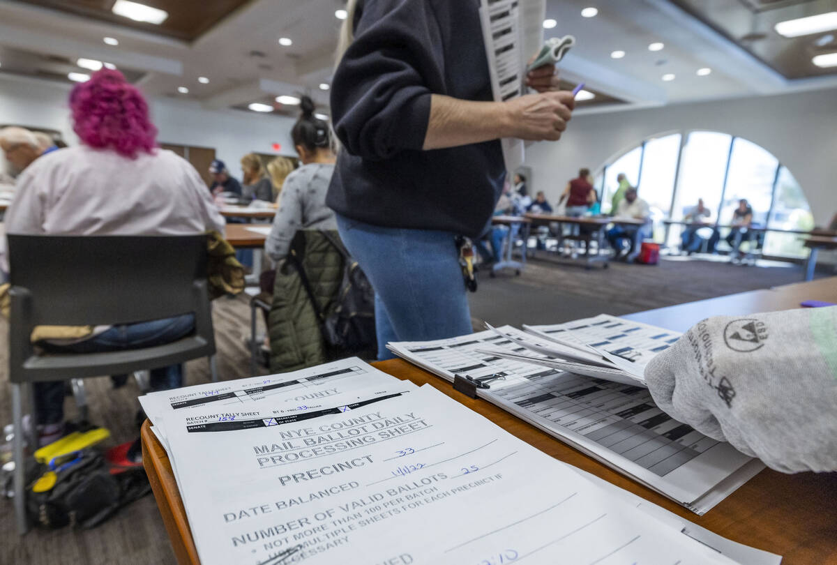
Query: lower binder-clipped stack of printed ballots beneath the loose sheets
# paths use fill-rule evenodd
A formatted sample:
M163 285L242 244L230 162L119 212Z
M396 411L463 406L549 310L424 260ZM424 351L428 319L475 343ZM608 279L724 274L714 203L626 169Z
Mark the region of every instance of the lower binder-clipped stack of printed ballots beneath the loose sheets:
M503 333L523 332L511 326ZM398 356L449 381L484 379L494 403L603 464L703 514L763 470L732 445L671 419L647 389L579 376L484 351L526 352L494 331L389 343Z

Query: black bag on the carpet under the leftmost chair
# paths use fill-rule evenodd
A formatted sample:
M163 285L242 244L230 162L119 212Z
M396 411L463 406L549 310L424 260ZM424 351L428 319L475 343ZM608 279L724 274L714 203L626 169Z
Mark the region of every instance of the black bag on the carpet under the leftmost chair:
M75 452L56 466L55 483L49 491L30 488L26 493L28 514L40 526L99 526L122 506L151 491L145 471L110 475L105 459L94 449ZM44 465L42 470L48 468Z

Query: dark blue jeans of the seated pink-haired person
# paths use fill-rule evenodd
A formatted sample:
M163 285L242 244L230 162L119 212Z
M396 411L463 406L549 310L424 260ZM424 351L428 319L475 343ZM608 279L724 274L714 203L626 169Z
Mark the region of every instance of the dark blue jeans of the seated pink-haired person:
M56 353L98 353L155 347L177 341L192 333L194 329L194 314L184 314L165 320L113 326L84 342L66 346L45 344L44 349ZM182 365L151 369L151 390L167 390L182 386ZM34 383L34 396L38 424L58 424L64 420L64 381Z

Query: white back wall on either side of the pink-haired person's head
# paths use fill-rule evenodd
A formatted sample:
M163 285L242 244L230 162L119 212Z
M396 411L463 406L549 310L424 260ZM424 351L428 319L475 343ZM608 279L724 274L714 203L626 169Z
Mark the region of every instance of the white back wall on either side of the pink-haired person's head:
M61 131L70 145L78 143L69 120L69 87L41 80L0 79L0 124L21 124ZM294 120L237 110L204 110L198 102L159 98L149 100L157 141L213 147L234 177L241 177L239 160L246 153L295 155L290 141Z

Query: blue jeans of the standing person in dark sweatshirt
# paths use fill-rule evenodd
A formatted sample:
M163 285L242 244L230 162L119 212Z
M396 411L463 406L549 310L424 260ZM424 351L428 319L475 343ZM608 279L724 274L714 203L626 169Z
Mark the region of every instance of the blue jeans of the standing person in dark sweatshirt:
M470 308L454 234L382 228L336 216L343 244L375 289L377 358L388 342L469 334Z

